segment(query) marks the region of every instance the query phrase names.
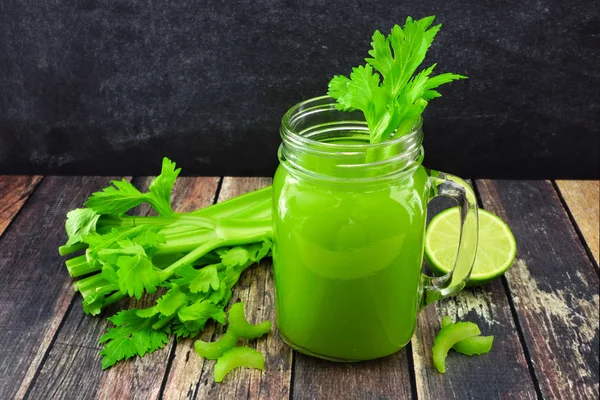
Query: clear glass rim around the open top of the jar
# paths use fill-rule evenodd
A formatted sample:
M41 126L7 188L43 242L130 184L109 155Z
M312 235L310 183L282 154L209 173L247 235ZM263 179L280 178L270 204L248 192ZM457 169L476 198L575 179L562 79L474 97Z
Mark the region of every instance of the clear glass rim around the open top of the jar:
M325 101L325 100L329 100L329 103L324 103L323 101ZM374 150L374 149L379 149L379 148L383 148L383 147L399 145L403 142L411 142L411 141L415 140L415 136L422 135L421 128L423 126L423 118L421 116L419 116L419 119L417 120L417 122L415 122L415 124L413 125L413 127L411 128L409 133L399 136L397 138L392 137L391 139L385 140L383 142L340 144L340 143L328 143L328 142L321 142L318 140L314 140L314 139L311 139L309 137L299 134L292 127L290 120L291 120L292 116L295 114L301 115L302 111L299 111L301 108L306 107L307 105L310 105L311 103L318 103L318 102L323 102L323 103L317 105L317 107L321 107L321 108L323 108L325 106L333 107L336 100L333 97L328 96L328 95L313 97L313 98L306 99L306 100L303 100L303 101L295 104L283 115L282 120L281 120L282 132L284 132L286 135L291 136L290 139L292 139L293 141L297 141L297 144L304 144L307 146L318 145L320 148L330 149L332 152L341 151L344 149ZM339 111L339 112L344 112L339 109L335 109L335 110ZM362 120L360 122L366 123L365 120Z

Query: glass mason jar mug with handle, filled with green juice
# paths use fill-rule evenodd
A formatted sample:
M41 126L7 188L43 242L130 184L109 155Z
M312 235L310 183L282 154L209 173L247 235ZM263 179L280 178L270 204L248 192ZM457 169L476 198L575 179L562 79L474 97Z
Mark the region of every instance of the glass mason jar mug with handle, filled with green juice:
M370 144L360 112L324 96L283 117L273 181L277 327L306 354L336 361L387 356L410 340L419 310L461 290L477 250L477 202L462 179L423 167L421 122ZM422 273L427 204L454 198L454 269Z

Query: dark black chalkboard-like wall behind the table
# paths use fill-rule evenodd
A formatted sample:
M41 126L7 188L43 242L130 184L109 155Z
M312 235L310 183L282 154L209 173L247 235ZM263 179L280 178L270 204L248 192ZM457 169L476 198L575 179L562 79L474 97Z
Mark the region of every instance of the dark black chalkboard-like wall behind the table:
M425 113L427 166L600 178L596 0L0 0L0 173L271 175L283 113L430 14L427 61L470 79Z

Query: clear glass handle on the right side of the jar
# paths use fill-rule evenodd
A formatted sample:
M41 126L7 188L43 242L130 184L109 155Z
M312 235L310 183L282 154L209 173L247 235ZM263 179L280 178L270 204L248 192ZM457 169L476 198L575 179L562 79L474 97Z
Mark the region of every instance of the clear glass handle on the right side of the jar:
M446 196L458 203L460 239L454 267L450 273L439 277L423 274L422 306L457 293L465 287L473 269L479 238L477 198L473 189L457 176L434 170L428 170L428 174L431 188L430 200L437 196Z

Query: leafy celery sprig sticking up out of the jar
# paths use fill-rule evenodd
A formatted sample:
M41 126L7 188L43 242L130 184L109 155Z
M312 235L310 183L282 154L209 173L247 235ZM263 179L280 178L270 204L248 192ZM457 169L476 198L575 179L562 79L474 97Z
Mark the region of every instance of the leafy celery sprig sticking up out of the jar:
M434 19L408 17L404 28L395 25L387 36L375 31L367 64L353 68L349 78L338 75L329 82L328 94L338 109L363 112L371 143L409 133L428 102L441 96L434 89L466 78L451 73L431 77L435 64L415 75L441 27L432 26Z

